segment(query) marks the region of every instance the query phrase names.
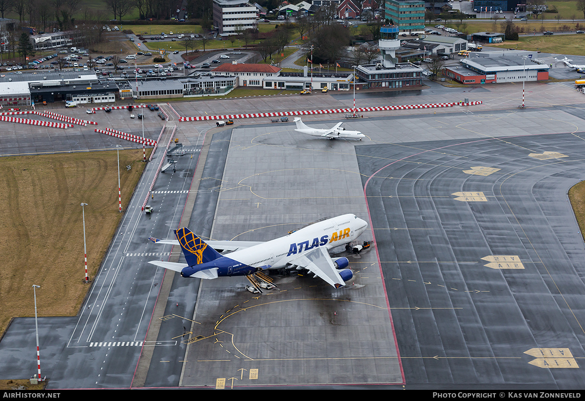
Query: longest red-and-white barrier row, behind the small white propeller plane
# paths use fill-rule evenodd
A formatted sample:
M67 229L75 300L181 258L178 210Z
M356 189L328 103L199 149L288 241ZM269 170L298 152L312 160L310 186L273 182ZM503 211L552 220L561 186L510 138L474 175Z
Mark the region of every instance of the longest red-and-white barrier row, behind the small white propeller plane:
M387 110L408 110L408 109L431 109L441 107L453 107L459 105L479 105L482 102L451 102L451 103L430 103L425 105L405 105L405 106L379 106L379 107L360 107L346 109L325 109L325 110L302 110L296 112L275 112L275 113L249 113L249 114L229 114L221 116L200 116L200 117L179 117L179 121L203 121L203 120L227 120L234 118L254 118L254 117L284 117L284 116L302 116L313 114L332 114L332 113L363 113L379 112Z

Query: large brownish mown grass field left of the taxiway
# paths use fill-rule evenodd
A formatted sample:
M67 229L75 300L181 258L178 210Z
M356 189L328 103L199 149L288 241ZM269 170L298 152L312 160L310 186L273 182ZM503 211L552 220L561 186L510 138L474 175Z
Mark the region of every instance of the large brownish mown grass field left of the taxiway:
M122 205L144 169L142 149L121 150ZM85 206L90 280L99 268L122 213L118 212L116 151L1 157L0 333L12 317L74 316L84 284Z

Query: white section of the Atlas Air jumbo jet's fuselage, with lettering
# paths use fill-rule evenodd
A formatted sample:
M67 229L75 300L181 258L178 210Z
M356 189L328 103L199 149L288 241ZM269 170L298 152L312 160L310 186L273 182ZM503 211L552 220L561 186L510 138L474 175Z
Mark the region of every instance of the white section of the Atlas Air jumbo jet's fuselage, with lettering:
M355 215L342 215L324 220L285 237L276 238L243 250L226 254L226 257L252 267L283 268L316 247L328 250L355 240L367 228L367 223ZM294 262L292 263L294 264Z

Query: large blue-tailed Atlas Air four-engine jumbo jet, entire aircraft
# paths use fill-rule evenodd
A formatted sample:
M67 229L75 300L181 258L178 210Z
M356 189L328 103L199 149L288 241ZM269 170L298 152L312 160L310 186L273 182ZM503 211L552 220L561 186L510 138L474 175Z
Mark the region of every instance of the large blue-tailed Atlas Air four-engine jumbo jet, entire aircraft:
M347 258L332 259L329 250L350 243L367 223L355 215L323 220L267 242L204 241L187 228L175 231L177 240L149 239L157 244L180 244L187 265L150 261L150 264L181 273L183 277L214 279L245 276L264 269L308 269L335 288L353 277ZM232 251L222 255L221 251Z

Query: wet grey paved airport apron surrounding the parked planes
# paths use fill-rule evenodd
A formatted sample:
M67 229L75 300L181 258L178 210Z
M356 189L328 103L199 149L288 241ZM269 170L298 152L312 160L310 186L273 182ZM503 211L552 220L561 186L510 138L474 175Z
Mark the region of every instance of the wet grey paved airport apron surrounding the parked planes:
M178 123L185 155L159 174L155 213L140 206L160 160L147 166L78 316L39 319L48 388L584 388L585 251L566 199L584 167L583 94L527 84L520 110L520 91L360 92L358 106L483 101L347 120L363 141L302 136L269 119ZM334 93L173 107L194 116L352 102ZM176 115L161 106L168 140ZM145 127L156 138L154 117ZM124 110L94 118L140 132ZM331 127L339 116L303 120ZM5 123L19 141L0 141L3 155L119 143L92 127L15 126ZM271 275L277 288L252 295L243 278L199 282L146 263L181 260L146 240L179 224L214 239L268 240L342 213L370 223L362 239L374 247L348 255L355 278L338 291ZM13 320L0 357L2 379L36 372L34 319Z

